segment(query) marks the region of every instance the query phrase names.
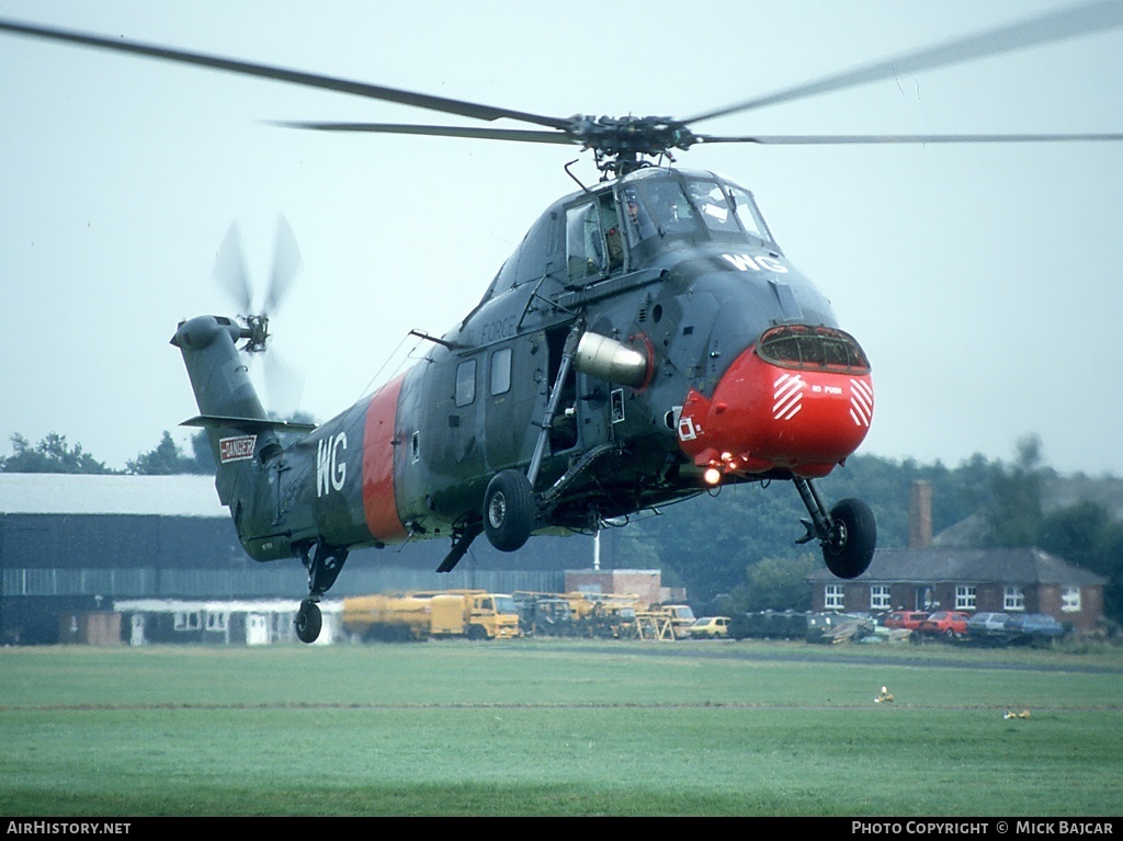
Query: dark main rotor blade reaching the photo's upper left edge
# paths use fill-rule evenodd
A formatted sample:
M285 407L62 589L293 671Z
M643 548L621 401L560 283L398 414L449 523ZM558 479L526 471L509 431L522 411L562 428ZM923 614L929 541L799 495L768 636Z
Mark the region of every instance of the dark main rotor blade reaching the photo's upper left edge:
M455 113L462 117L472 117L477 120L497 120L508 118L522 122L532 122L549 128L565 129L569 124L557 117L545 117L542 115L528 113L526 111L512 111L506 108L494 108L492 106L466 102L464 100L447 99L445 97L431 97L426 93L404 91L398 88L384 88L365 82L355 82L347 79L325 76L317 73L304 73L302 71L276 67L268 64L255 64L222 56L208 55L206 53L192 53L172 47L163 47L155 44L143 44L139 42L125 40L122 38L106 38L89 33L80 33L72 29L56 29L53 27L35 26L24 24L18 20L0 19L0 31L13 35L30 36L34 38L46 38L60 40L65 44L79 44L97 49L108 49L116 53L129 55L140 55L147 58L156 58L165 62L188 64L197 67L209 67L225 73L234 73L243 76L257 76L259 79L271 79L286 84L299 84L305 88L317 88L320 90L336 91L338 93L349 93L367 99L383 100L386 102L398 102L404 106L424 108L430 111L441 111L444 113Z

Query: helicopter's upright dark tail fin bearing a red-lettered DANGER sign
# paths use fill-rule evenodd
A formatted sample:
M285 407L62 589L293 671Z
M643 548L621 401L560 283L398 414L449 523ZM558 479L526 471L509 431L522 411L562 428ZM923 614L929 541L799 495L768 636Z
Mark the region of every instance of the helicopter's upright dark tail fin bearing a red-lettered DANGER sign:
M282 450L277 430L312 429L266 417L236 344L249 338L249 328L220 316L184 321L172 337L172 344L183 354L201 412L184 426L207 429L218 466L214 485L219 500L230 508L239 531L239 503L248 508L259 475L257 468Z

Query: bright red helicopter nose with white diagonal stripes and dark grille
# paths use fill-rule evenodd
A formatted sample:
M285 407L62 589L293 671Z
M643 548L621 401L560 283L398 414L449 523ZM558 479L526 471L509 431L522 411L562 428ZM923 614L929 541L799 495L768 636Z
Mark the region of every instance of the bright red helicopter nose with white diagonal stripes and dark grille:
M691 390L679 444L700 467L739 476L825 476L865 440L874 417L869 364L840 330L784 326L734 360L713 399ZM707 481L716 474L709 470Z

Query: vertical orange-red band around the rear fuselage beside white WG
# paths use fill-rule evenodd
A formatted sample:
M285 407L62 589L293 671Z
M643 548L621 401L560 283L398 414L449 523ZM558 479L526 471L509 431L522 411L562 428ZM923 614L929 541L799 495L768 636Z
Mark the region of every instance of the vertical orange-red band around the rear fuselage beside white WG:
M366 408L363 432L363 508L376 540L396 542L407 537L394 501L394 422L404 375L380 388Z

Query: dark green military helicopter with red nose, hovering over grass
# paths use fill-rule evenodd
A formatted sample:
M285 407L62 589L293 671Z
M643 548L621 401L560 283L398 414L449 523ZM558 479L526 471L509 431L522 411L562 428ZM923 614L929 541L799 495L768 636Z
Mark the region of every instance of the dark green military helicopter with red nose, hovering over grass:
M678 168L674 155L714 143L1120 140L692 128L1120 25L1123 4L1089 3L686 119L558 118L20 21L0 20L0 31L535 127L275 124L285 128L592 153L600 181L578 181L546 209L476 307L440 337L419 333L431 345L419 364L319 426L270 419L255 393L244 354L266 349L267 311L247 310L240 321L200 316L175 330L200 411L185 424L207 430L219 499L247 554L302 560L309 593L296 632L312 642L322 624L318 603L355 548L444 539L438 570L448 572L480 534L517 551L536 533L587 533L728 484L791 482L809 514L798 541L818 541L836 576L861 575L877 542L873 512L856 499L829 508L814 483L844 464L870 428L870 362L788 262L752 193L715 173ZM282 229L280 241L290 237ZM220 262L239 259L220 249ZM290 276L277 275L282 285ZM286 442L290 432L300 437Z

